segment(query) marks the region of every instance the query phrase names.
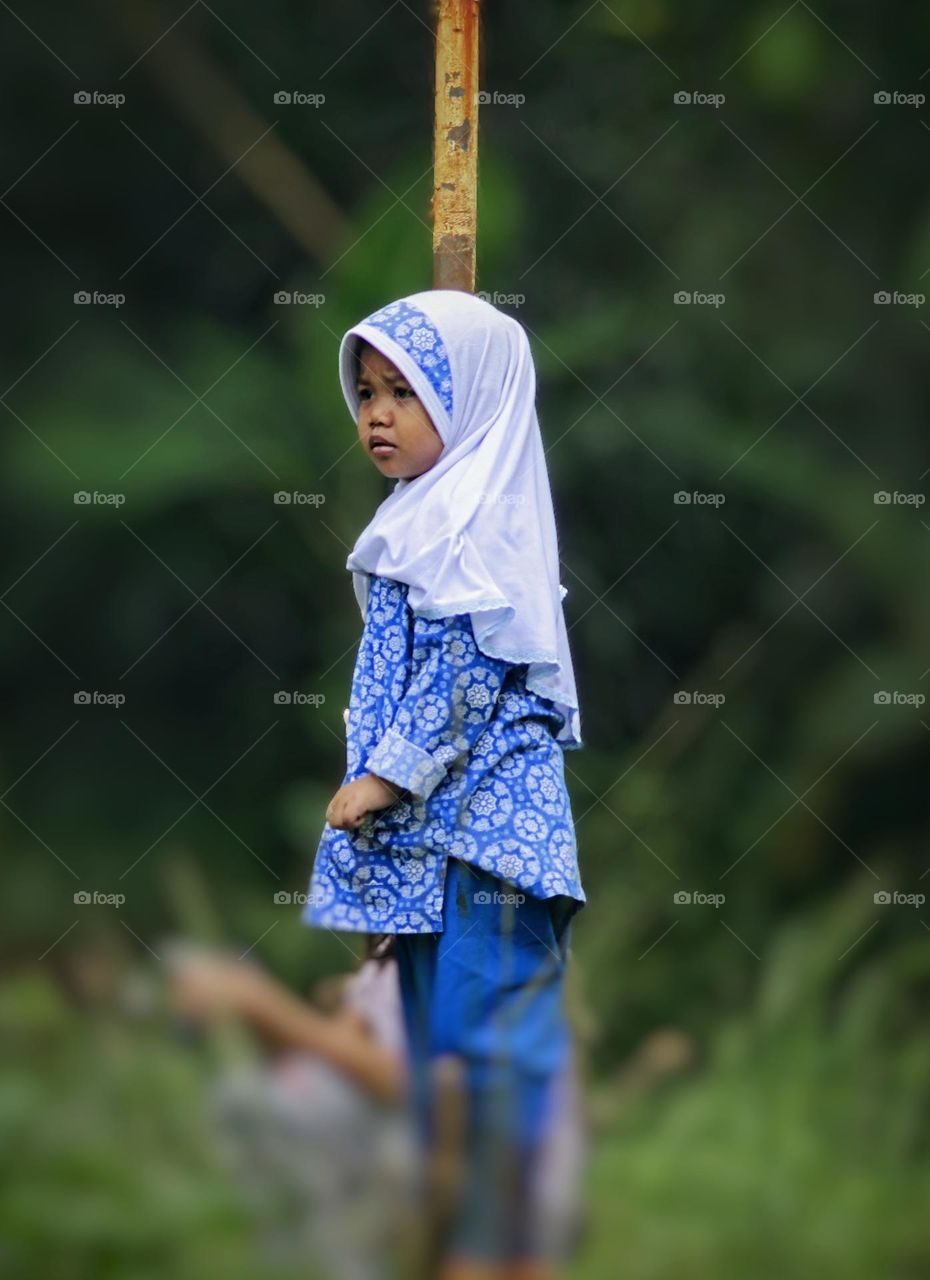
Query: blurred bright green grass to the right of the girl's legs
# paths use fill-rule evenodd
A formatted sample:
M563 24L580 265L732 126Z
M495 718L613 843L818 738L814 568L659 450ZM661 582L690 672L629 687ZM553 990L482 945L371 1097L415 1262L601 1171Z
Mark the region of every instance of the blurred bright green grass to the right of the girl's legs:
M915 916L851 975L861 915L849 893L783 925L700 1070L601 1134L572 1280L927 1275L930 952Z

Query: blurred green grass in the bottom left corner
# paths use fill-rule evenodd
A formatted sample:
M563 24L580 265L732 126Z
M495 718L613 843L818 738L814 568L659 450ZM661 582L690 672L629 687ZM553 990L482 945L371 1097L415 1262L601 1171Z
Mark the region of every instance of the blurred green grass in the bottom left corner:
M203 1064L165 1027L86 1019L40 975L3 984L0 1025L13 1059L0 1074L8 1275L269 1274L205 1120Z

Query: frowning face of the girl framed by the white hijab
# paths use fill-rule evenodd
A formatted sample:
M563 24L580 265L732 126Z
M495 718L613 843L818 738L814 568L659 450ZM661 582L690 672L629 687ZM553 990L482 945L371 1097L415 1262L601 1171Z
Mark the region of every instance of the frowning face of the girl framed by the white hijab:
M443 439L416 392L394 365L368 343L358 375L358 439L381 475L413 480L434 466ZM381 440L391 448L375 448Z

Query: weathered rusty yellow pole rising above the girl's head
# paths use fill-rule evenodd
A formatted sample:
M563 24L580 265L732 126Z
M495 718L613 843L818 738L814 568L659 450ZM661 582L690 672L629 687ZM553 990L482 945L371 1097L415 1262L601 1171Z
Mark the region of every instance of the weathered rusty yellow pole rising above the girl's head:
M436 5L432 284L475 292L480 0Z

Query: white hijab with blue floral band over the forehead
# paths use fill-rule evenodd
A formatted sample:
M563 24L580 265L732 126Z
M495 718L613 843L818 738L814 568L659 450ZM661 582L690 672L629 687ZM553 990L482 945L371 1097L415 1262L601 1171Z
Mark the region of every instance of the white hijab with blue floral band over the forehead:
M389 303L349 329L339 347L353 419L356 338L407 379L444 444L429 471L397 481L349 553L362 617L368 573L407 582L407 603L423 617L468 613L478 648L527 663L527 687L565 718L558 741L581 746L562 609L567 589L523 326L458 289Z

